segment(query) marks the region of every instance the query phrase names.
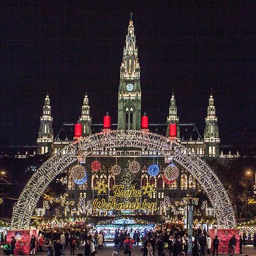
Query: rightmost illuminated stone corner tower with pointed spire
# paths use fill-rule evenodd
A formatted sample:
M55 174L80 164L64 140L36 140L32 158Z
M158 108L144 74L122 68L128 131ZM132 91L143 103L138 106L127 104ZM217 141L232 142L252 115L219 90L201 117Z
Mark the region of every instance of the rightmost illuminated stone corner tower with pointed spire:
M220 138L218 138L218 118L215 113L214 99L210 93L207 117L205 117L204 129L205 154L207 157L220 156Z

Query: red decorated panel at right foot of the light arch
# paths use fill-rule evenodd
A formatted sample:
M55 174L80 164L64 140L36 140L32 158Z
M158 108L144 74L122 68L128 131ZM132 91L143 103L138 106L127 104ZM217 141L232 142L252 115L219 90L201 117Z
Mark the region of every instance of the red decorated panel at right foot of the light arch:
M239 230L238 229L209 229L210 238L213 239L215 236L218 236L220 243L218 245L219 254L228 254L229 253L229 240L233 235L236 235L237 244L235 246L235 253L239 253ZM212 246L213 249L213 246Z

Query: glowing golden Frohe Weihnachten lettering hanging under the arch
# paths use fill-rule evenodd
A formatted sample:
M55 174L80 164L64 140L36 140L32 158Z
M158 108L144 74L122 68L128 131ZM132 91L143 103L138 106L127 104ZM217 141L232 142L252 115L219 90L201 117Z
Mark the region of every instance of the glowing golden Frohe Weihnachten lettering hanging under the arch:
M113 186L113 195L109 196L109 200L94 199L92 204L93 210L156 210L156 202L149 202L147 199L142 199L142 196L149 196L151 198L155 189L149 191L143 187L135 189L125 189L123 185ZM123 200L126 199L126 200ZM133 199L133 200L129 200Z

